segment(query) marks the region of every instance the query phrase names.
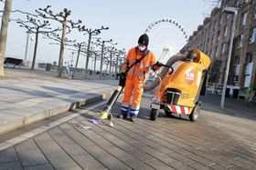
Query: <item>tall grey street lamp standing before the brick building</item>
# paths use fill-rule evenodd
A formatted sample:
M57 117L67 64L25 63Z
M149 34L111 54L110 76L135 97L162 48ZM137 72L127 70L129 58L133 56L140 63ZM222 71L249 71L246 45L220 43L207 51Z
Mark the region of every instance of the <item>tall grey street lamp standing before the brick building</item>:
M228 76L229 76L229 64L230 64L230 58L231 58L231 52L232 52L232 46L233 46L234 32L236 27L237 9L235 7L224 7L222 9L222 13L234 15L233 23L231 26L231 32L230 32L230 39L229 39L229 54L228 54L227 63L226 63L225 77L224 77L223 89L222 89L222 95L221 95L221 101L220 101L220 107L221 109L224 109L226 87L227 87Z

